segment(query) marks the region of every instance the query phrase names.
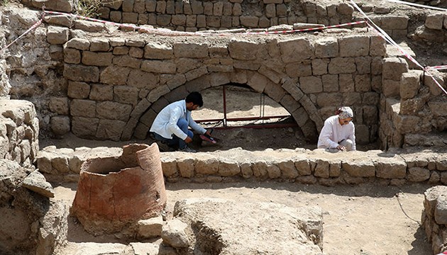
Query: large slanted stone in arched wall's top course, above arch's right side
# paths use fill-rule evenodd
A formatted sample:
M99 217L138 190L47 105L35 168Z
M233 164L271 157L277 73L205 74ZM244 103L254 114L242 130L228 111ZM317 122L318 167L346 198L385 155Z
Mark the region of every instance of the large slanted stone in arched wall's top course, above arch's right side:
M299 62L314 57L314 47L310 40L297 38L278 42L281 51L281 60L285 63Z

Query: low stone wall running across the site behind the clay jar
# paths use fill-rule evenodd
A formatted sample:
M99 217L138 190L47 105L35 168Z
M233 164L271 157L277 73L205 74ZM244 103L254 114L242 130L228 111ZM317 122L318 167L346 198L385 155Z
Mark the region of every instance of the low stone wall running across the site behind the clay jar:
M117 157L121 149L103 149L99 157ZM80 156L80 151L82 156ZM109 152L107 152L109 151ZM97 149L67 151L50 147L38 156L38 168L51 181L77 181L80 165ZM167 181L292 181L321 185L383 185L404 183L447 184L445 153L393 152L371 150L332 154L322 149L267 149L260 152L240 148L221 152L166 152L161 154L162 170Z

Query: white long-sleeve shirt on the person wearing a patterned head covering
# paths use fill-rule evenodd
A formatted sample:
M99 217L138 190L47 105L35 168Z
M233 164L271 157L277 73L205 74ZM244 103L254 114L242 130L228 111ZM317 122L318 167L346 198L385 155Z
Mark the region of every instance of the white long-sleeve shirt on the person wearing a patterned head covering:
M348 124L341 125L338 121L338 115L333 115L324 121L324 126L318 138L318 147L335 149L338 142L347 139L353 141L353 150L355 150L354 123L351 121Z

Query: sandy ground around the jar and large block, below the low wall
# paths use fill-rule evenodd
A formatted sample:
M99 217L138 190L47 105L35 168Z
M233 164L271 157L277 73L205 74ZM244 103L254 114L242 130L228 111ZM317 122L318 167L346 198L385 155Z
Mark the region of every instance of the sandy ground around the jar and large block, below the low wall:
M76 184L55 187L56 199L72 203ZM420 227L424 191L428 186L307 186L298 183L167 183L167 210L172 213L183 198L227 198L281 203L291 207L319 205L324 212L324 254L429 255L431 246ZM70 219L70 244L61 254L79 246L113 246L129 240L92 237ZM91 244L87 244L92 242Z

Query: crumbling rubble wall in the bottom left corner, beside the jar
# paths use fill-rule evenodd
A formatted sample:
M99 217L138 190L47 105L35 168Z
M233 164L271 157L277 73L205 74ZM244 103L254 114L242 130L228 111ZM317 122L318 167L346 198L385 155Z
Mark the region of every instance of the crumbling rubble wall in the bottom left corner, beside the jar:
M53 254L67 242L68 208L38 171L0 159L1 254Z

